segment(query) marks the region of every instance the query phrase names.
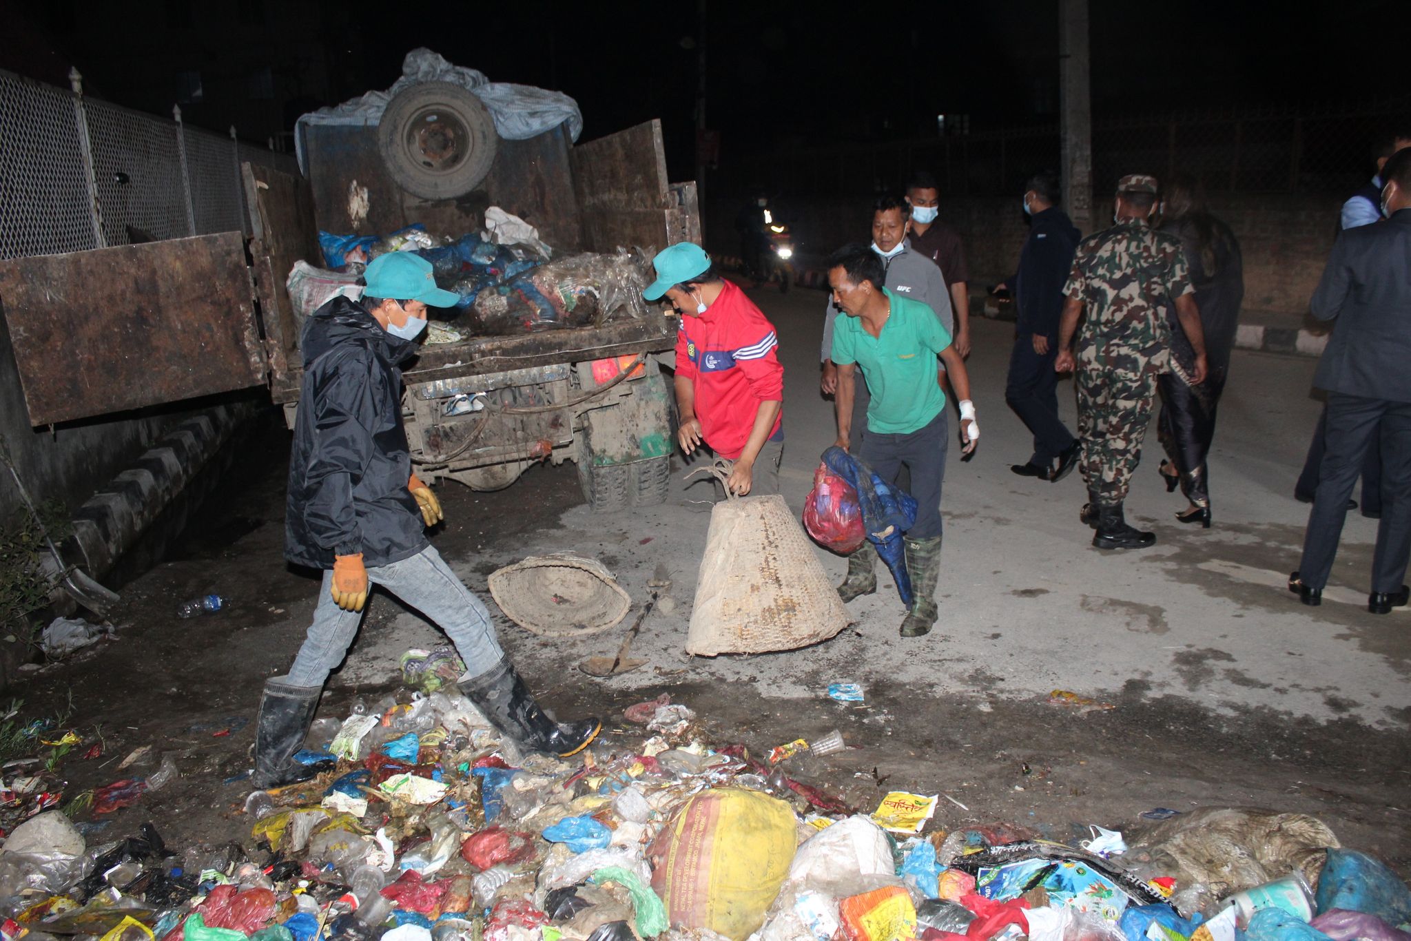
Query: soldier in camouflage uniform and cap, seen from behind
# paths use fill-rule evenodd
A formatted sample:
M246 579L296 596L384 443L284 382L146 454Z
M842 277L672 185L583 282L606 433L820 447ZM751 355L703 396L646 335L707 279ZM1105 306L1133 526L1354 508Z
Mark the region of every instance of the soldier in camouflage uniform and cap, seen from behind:
M1078 392L1079 467L1088 481L1089 502L1082 521L1096 528L1098 549L1141 549L1156 535L1129 526L1122 504L1132 473L1141 460L1141 439L1151 422L1156 377L1171 368L1171 327L1175 316L1195 351L1191 385L1205 380L1205 339L1191 295L1181 240L1150 226L1157 202L1154 176L1133 174L1118 182L1116 226L1078 244L1072 272L1064 285L1058 327L1058 372L1074 370ZM1078 357L1071 348L1078 317Z

